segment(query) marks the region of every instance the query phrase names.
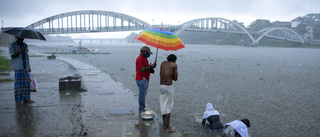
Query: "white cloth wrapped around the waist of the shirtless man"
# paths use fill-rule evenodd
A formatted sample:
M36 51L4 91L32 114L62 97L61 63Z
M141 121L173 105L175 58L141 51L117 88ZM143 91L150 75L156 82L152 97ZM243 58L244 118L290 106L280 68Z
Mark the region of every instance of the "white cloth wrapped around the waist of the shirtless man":
M171 113L173 93L172 85L160 85L160 111L162 115Z

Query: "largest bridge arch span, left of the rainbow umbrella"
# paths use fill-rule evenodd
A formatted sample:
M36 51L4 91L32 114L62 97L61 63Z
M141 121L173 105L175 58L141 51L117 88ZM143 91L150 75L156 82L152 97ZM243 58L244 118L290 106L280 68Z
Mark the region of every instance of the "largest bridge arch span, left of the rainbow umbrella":
M138 18L111 11L80 10L57 14L27 26L43 34L134 31L152 28Z

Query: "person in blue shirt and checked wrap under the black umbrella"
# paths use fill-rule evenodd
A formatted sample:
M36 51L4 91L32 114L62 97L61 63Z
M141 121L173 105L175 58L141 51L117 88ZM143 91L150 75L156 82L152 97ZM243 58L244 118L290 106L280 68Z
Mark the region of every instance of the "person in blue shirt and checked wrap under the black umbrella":
M9 46L12 68L15 72L14 97L18 105L33 103L30 99L30 62L28 45L23 42L24 38L16 37L17 40Z

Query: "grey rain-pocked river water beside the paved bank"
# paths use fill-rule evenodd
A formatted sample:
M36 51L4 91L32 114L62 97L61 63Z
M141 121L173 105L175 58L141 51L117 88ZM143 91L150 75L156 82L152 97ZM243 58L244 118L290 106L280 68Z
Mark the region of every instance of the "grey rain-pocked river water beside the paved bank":
M65 52L76 44L37 44L31 50ZM143 44L85 44L110 54L56 54L88 63L133 93L135 60ZM152 52L156 49L151 47ZM178 81L171 124L191 136L219 136L200 124L206 103L220 112L223 124L248 118L251 136L320 135L320 49L186 45L178 51L159 50L146 104L159 109L159 68L175 54ZM149 58L153 62L155 54ZM138 103L138 102L137 102ZM138 109L138 108L137 108Z

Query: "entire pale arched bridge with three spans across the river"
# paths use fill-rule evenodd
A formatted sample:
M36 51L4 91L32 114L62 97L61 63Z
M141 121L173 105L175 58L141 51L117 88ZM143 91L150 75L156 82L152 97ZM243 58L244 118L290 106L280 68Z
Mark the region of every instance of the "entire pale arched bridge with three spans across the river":
M37 29L43 34L67 34L135 31L160 27L160 25L152 26L138 18L122 13L84 10L54 15L37 21L27 27ZM162 27L175 32L177 35L182 31L241 33L248 35L253 44L257 44L263 37L304 43L303 39L289 28L266 28L252 33L235 21L219 17L200 18L185 22L181 25L163 25ZM255 39L253 34L258 37Z

